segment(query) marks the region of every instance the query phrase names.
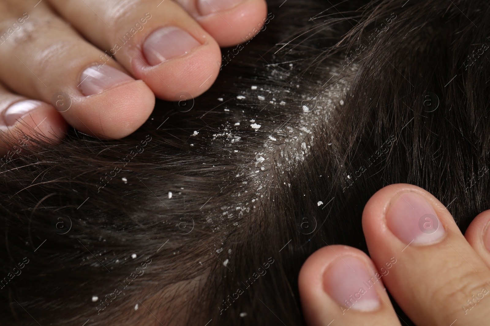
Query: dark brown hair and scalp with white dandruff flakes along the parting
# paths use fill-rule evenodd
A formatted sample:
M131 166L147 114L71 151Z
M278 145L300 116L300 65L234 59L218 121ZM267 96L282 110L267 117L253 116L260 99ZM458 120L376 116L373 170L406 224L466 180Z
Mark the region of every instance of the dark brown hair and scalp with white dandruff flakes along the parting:
M209 91L124 139L12 144L2 325L305 325L302 263L367 252L377 190L422 187L463 231L489 208L488 1L269 12Z

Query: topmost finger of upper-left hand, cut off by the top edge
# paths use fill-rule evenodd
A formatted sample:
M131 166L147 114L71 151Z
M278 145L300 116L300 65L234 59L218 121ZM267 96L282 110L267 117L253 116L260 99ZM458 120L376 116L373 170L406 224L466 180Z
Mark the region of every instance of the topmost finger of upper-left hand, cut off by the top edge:
M249 41L274 16L264 0L176 0L220 44Z

